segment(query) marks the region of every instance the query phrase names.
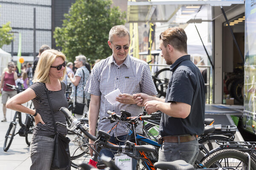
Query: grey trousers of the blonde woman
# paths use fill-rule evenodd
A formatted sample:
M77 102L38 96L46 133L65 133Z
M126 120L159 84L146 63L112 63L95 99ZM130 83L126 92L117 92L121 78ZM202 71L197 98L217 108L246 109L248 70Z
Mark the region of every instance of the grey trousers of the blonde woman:
M53 155L54 139L33 134L30 144L30 159L32 161L30 170L53 170L51 168Z

